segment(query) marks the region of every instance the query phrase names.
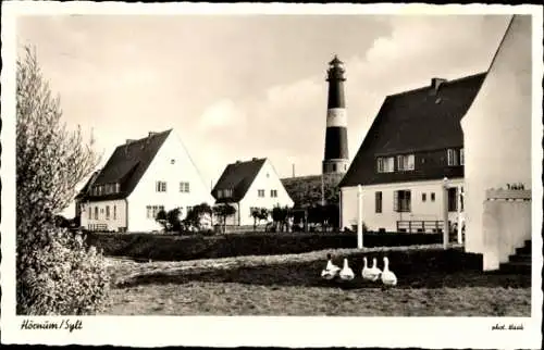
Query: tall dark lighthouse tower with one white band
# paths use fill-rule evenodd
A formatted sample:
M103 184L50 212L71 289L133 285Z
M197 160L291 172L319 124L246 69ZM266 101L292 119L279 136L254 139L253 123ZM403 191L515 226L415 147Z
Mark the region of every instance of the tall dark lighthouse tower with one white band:
M345 173L348 165L347 114L344 98L344 63L335 55L329 62L329 102L326 110L323 174Z

